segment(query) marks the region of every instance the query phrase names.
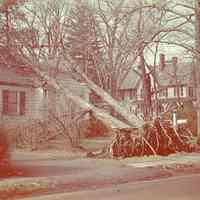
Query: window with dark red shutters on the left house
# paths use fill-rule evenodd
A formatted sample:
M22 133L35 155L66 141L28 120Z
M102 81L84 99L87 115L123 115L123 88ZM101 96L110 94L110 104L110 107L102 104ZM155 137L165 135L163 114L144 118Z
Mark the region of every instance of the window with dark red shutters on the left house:
M3 90L3 114L16 116L25 114L25 92Z

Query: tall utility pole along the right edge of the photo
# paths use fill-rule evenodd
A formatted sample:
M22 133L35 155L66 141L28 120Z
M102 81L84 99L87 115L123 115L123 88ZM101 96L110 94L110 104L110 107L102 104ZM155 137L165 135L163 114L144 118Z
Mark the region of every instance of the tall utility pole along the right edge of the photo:
M195 1L195 74L197 98L197 135L200 135L200 0Z

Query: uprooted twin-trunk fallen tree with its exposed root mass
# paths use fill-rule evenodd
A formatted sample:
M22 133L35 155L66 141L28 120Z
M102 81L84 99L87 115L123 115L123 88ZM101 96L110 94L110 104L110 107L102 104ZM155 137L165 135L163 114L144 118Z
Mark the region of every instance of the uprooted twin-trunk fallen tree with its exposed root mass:
M140 120L135 115L130 115L126 110L123 110L115 99L82 73L82 77L86 81L88 87L94 90L105 102L108 103L108 105L112 106L116 112L123 116L125 120L120 121L102 109L92 105L84 98L73 94L73 92L70 91L70 88L64 87L59 80L56 80L47 73L41 71L40 65L40 63L31 62L29 66L34 66L32 69L37 76L42 81L45 81L48 85L53 87L57 92L63 94L64 98L72 100L83 110L92 111L97 119L101 120L111 128L137 128L139 130L138 135L136 136L129 134L119 135L116 133L116 138L109 147L110 155L114 157L127 157L151 154L168 155L177 151L192 151L192 147L188 143L191 136L185 134L188 133L188 131L176 130L172 127L164 127L159 120L155 120L153 125L150 123L144 124L144 121Z

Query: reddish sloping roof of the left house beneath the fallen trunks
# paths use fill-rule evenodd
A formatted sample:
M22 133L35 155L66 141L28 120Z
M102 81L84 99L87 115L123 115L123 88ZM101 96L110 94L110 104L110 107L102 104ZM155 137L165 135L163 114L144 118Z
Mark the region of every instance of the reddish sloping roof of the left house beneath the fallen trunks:
M79 90L82 84L73 80L69 73L64 68L57 69L54 63L46 66L48 69L47 73L58 79L65 86L70 85L73 90ZM0 85L10 86L42 86L43 83L40 78L36 75L31 66L28 66L13 49L0 47ZM81 88L82 90L82 88ZM79 92L80 93L80 92Z

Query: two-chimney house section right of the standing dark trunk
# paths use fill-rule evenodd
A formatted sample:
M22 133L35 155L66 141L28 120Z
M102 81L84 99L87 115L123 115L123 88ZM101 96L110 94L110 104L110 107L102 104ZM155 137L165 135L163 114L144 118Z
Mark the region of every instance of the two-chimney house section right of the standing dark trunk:
M158 107L158 112L167 112L187 102L194 102L196 94L193 63L179 62L177 57L166 62L163 54L160 57L160 65L152 76L156 83L156 91L152 88L153 106Z

